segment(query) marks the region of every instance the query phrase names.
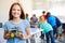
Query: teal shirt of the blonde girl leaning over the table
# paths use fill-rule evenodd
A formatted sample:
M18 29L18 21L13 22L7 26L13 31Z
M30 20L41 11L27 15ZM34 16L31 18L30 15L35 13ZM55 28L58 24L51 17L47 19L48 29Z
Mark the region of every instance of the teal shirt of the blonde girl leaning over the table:
M52 26L50 24L46 23L40 23L38 22L38 25L40 26L40 28L43 29L43 33L48 33L49 31L53 30Z

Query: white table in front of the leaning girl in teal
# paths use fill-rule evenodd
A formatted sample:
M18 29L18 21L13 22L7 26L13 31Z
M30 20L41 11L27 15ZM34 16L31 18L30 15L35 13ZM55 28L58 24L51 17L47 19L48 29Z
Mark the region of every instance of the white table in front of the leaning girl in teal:
M35 40L35 43L37 43L37 41L38 41L38 38L41 35L41 31L42 31L42 29L39 29L39 28L30 28L30 33L31 33L31 35L34 35L34 40Z

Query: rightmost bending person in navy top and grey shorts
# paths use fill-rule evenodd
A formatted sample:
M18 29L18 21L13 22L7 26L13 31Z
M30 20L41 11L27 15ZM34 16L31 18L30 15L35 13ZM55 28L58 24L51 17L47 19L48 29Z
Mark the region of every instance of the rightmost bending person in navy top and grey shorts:
M62 41L63 40L62 39L62 32L63 32L62 23L57 17L55 17L55 18L56 18L56 27L57 27L56 37L57 37L58 41Z

